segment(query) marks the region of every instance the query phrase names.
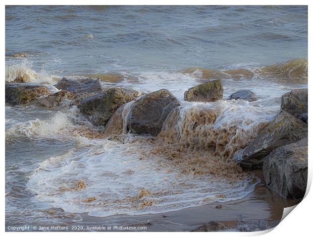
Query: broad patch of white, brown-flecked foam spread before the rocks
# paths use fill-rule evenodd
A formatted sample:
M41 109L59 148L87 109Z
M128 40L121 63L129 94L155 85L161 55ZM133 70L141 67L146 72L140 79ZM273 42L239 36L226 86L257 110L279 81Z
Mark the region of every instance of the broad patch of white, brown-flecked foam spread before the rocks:
M42 162L29 177L35 201L93 216L161 213L241 199L258 182L244 174L237 180L183 174L164 158L143 158L147 144L96 140L88 141L87 150L79 144Z

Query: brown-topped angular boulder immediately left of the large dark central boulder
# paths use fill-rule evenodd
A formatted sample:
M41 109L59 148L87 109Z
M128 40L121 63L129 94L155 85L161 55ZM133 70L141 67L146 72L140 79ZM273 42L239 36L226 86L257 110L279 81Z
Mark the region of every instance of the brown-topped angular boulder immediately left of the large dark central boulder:
M128 90L112 87L101 94L83 99L78 107L93 125L104 126L120 106L134 99L133 93Z

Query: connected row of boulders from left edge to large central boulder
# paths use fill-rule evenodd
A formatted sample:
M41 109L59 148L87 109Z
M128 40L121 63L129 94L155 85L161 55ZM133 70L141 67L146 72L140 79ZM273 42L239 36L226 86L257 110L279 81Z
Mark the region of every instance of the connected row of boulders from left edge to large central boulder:
M167 115L173 108L180 106L177 98L166 89L151 92L137 99L139 95L137 91L120 87L102 89L97 79L63 78L55 87L60 91L52 93L46 86L40 84L8 83L6 103L35 104L53 108L68 101L70 105L77 105L80 112L93 125L106 126L114 114L121 117L126 103L135 100L127 116L128 131L151 136L157 136L161 132ZM117 133L121 132L122 125L118 126Z

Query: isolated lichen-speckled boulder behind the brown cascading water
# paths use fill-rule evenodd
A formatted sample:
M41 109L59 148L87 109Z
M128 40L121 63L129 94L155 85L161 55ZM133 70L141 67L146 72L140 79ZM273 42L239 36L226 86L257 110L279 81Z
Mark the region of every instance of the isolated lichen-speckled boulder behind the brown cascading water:
M187 101L214 102L223 99L223 86L220 80L211 80L189 88L184 93Z

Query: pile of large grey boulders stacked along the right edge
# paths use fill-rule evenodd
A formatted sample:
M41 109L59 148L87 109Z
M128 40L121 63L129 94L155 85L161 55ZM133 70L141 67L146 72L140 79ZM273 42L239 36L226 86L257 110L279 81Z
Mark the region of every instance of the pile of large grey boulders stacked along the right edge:
M303 198L307 184L307 89L282 95L281 112L233 155L244 169L263 169L266 184L285 198Z

